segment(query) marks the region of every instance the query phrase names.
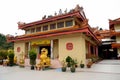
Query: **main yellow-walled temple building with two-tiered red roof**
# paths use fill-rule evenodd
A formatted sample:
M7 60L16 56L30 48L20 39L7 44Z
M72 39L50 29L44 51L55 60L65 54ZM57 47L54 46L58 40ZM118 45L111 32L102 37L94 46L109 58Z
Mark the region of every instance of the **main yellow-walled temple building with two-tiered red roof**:
M71 56L78 63L81 60L85 63L92 55L98 56L100 41L93 34L83 7L79 5L69 12L45 15L39 21L19 22L18 28L24 30L25 34L8 37L9 42L14 42L14 53L18 58L21 53L29 58L28 52L32 48L36 49L38 58L41 49L46 48L51 59L60 61Z

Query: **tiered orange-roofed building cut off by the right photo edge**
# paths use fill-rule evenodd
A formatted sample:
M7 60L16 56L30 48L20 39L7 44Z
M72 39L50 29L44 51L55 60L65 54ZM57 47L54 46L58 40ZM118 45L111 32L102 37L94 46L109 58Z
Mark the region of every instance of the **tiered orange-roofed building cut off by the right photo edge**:
M116 49L116 56L120 58L120 18L109 20L109 28L111 31L111 39L115 42L112 43L112 48Z

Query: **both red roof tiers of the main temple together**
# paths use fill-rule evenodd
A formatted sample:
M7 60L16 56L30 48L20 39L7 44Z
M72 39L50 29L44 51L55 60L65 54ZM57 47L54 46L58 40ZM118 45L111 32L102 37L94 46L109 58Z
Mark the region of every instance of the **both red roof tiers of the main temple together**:
M82 21L81 25L74 25L73 27L69 28L61 28L57 30L50 30L45 32L36 32L32 34L24 34L21 36L8 36L7 40L8 42L15 42L15 41L25 41L25 40L32 40L32 39L38 39L38 38L46 38L46 37L52 37L52 36L61 36L61 35L67 35L67 34L73 34L73 33L85 33L86 36L92 37L92 39L95 40L95 42L99 43L99 40L96 38L96 36L93 34L89 24L88 20L86 19L86 16L84 14L83 8L79 7L78 5L70 10L68 13L62 13L55 16L50 16L46 18L44 16L42 20L30 22L30 23L24 23L24 22L18 22L19 29L26 29L28 27L33 27L34 25L44 24L56 20L61 20L64 18L77 18L77 20Z

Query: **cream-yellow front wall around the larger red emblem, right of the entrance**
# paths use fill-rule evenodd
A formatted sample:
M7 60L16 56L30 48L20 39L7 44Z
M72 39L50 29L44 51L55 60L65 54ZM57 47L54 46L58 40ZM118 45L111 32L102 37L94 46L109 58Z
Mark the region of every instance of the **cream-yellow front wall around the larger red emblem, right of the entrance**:
M73 43L73 49L67 50L66 44ZM82 60L85 63L85 39L79 36L68 36L59 39L59 59L65 60L67 56L71 56L73 59L77 59L78 64Z

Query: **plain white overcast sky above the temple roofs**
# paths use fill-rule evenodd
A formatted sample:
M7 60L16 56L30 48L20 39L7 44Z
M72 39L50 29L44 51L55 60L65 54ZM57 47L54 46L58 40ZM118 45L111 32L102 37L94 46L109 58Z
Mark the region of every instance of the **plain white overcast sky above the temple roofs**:
M109 29L109 19L120 18L120 0L0 0L0 33L22 35L17 22L30 23L44 15L67 11L79 4L91 27Z

